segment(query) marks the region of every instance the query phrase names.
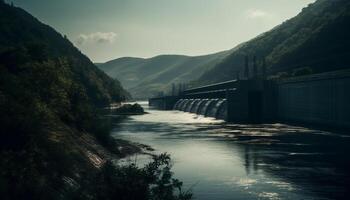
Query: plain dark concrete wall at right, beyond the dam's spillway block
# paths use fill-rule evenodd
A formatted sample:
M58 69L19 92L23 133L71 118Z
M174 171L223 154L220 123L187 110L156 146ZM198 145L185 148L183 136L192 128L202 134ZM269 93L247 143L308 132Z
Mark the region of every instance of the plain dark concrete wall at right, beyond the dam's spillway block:
M333 72L277 84L278 120L350 128L350 72Z

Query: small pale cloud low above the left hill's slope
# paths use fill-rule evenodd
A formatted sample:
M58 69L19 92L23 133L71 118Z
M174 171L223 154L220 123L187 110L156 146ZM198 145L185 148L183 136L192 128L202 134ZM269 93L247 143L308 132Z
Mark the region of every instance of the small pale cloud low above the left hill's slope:
M80 34L75 42L78 45L84 45L87 43L111 44L116 38L117 34L114 32L96 32L90 34Z

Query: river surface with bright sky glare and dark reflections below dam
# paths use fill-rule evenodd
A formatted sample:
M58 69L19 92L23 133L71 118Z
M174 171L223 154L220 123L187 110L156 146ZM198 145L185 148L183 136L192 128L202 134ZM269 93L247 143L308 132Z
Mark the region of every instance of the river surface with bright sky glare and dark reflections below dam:
M196 199L347 199L350 193L346 135L147 111L117 118L114 137L170 153L175 177ZM147 156L132 159L142 163Z

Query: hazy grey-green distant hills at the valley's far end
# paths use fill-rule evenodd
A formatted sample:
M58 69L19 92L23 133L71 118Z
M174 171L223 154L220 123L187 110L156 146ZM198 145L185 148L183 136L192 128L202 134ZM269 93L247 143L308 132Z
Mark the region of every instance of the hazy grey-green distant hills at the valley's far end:
M166 91L172 83L188 83L229 55L223 51L204 56L160 55L153 58L124 57L98 67L117 78L135 99L145 99Z

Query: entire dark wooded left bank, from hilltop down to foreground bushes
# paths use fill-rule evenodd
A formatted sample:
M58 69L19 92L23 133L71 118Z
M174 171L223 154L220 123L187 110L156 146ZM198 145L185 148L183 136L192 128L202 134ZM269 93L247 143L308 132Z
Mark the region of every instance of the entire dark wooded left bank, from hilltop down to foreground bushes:
M168 154L114 164L141 150L110 135L122 118L105 107L128 96L67 37L0 0L1 199L191 199Z

